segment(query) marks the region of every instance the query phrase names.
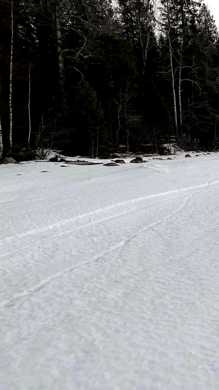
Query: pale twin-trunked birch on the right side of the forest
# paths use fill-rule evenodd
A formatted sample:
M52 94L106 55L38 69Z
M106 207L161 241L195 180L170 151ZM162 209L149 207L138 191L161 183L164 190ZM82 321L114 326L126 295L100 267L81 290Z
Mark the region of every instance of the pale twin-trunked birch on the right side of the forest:
M177 137L179 131L180 136L184 132L182 83L190 82L192 90L193 83L196 83L193 80L195 74L194 58L191 63L189 51L193 44L193 26L195 30L199 7L200 2L198 0L161 0L161 27L168 45L169 73ZM164 71L164 73L167 75L168 71ZM184 88L184 90L188 91L191 88ZM189 96L185 101L189 101Z

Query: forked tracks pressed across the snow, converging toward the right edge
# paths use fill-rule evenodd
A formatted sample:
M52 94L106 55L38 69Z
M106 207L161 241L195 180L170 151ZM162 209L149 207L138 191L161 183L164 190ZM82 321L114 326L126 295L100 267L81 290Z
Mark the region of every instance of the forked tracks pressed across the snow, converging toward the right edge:
M129 208L129 206L131 204L136 204L136 203L139 203L139 202L144 202L145 203L147 201L155 200L157 198L158 198L158 200L155 200L155 202L165 202L165 201L170 200L170 199L176 199L177 197L187 196L187 199L185 200L185 203L182 206L180 206L176 211L173 211L172 213L170 213L168 216L162 218L161 220L158 220L155 223L152 223L151 225L145 227L144 229L139 230L133 236L130 236L129 238L127 238L124 241L118 242L116 245L111 247L109 250L106 250L106 251L102 252L101 254L98 254L98 255L94 256L89 261L85 261L85 262L82 262L82 263L80 262L78 265L76 265L74 267L68 267L66 269L63 269L62 271L59 271L59 272L51 275L50 277L42 280L37 285L35 285L35 286L31 287L30 289L28 289L28 291L23 291L22 293L15 294L14 296L12 296L10 298L10 300L5 300L5 301L0 302L0 308L1 307L5 307L7 305L11 305L14 301L18 300L19 298L23 298L25 296L28 296L30 294L33 294L33 293L39 291L40 289L42 289L42 287L44 287L44 285L48 284L51 280L54 280L56 278L60 278L60 277L62 277L64 275L74 271L78 267L85 266L89 262L96 262L96 261L100 260L104 255L109 254L109 253L117 250L118 248L121 248L122 246L124 246L128 242L130 242L133 238L138 236L138 234L141 234L141 233L151 229L152 227L155 227L156 225L159 225L160 223L164 222L165 220L167 220L167 219L171 218L172 216L176 215L177 213L179 213L187 205L188 200L194 194L196 194L196 193L198 193L200 191L206 190L206 188L208 188L209 184L211 184L211 185L219 184L219 181L216 181L215 178L213 178L213 179L209 179L207 183L200 184L198 186L193 186L193 187L188 187L188 188L181 188L180 190L166 191L164 193L158 193L158 194L150 195L150 196L147 196L147 197L141 197L141 198L132 199L132 200L129 200L129 201L126 201L126 202L121 202L119 204L114 204L112 206L108 206L108 207L105 207L105 208L102 208L102 209L98 209L98 210L92 211L90 213L85 213L85 214L82 214L82 215L78 215L78 216L76 216L74 218L70 218L69 220L65 220L65 221L61 221L61 222L58 222L58 223L54 223L54 224L48 225L48 226L46 226L44 228L34 229L34 230L31 230L30 232L21 233L21 234L16 235L16 236L7 237L6 239L4 239L4 241L12 242L12 241L14 241L15 238L16 239L27 238L28 235L34 236L35 234L37 234L37 235L38 234L42 234L45 242L37 245L37 248L39 248L40 246L44 246L44 245L48 245L49 243L52 243L53 241L57 240L57 238L61 238L62 236L66 237L67 235L71 235L72 232L74 232L76 230L88 229L89 227L94 226L95 224L98 224L100 222L107 222L108 220L112 220L114 218L118 218L120 216L127 215L127 214L130 214L130 213L135 213L136 211L140 211L140 210L143 210L146 207L148 207L148 204L146 204L146 205L144 205L142 207L134 208L134 209L132 209L130 211L128 208ZM150 204L150 206L152 206L152 205L153 204ZM114 210L116 208L121 208L122 206L125 206L125 208L126 207L127 208L124 211L122 211L122 212L119 212L119 213L117 212L117 213L113 213L112 215L108 215L109 211ZM69 226L66 228L67 224L71 225L71 223L75 222L76 220L81 220L81 219L83 220L83 219L85 219L87 217L90 218L91 216L93 217L93 216L100 215L100 214L104 215L104 213L106 213L107 216L102 216L101 218L98 218L94 222L89 222L89 223L86 223L84 225L81 225L81 226L75 227L75 228L72 228L72 227L69 227ZM49 234L49 235L45 236L45 233L47 231L51 231L55 227L60 228L62 226L65 227L64 231L62 231L60 233L57 233L55 235L54 234ZM69 229L70 229L70 231L69 231ZM40 237L40 241L41 240L42 240L42 237ZM0 243L1 243L1 241L0 241ZM21 250L19 252L17 252L15 250L14 252L7 253L7 255L1 254L0 259L5 259L5 258L8 259L8 258L10 258L10 257L12 257L14 255L21 254L21 253L25 252L28 248L31 248L31 245L32 244L30 244L30 245L21 245Z

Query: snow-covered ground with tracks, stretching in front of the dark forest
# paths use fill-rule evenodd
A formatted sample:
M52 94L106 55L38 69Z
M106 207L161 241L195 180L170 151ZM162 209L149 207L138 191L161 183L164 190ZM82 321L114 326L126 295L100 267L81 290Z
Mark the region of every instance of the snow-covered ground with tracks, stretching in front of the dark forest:
M191 155L0 166L1 390L219 388L219 154Z

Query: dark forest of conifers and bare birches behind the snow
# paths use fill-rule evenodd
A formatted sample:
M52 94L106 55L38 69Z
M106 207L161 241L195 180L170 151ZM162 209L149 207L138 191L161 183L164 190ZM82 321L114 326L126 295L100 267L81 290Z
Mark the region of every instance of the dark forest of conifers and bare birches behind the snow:
M219 148L219 36L198 0L1 0L0 160Z

